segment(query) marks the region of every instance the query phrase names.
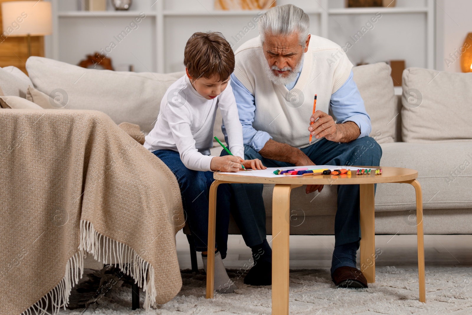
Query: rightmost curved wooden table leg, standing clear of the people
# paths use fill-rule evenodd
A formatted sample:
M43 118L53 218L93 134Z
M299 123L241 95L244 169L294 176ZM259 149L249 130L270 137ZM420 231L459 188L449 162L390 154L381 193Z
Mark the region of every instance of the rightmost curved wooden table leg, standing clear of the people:
M424 240L423 240L423 198L418 180L410 184L416 191L416 234L418 238L418 281L420 286L420 302L426 303L426 280L424 275Z

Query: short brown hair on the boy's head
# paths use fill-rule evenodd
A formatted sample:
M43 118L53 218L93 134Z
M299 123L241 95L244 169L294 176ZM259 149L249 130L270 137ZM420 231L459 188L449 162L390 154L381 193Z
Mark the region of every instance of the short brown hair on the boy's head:
M226 80L235 68L235 54L223 34L197 32L187 41L184 65L194 79L216 76Z

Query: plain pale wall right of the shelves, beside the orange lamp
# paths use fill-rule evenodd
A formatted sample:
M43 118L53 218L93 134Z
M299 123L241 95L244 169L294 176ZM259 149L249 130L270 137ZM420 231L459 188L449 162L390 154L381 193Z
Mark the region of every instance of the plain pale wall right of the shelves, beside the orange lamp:
M460 59L454 61L449 54L460 51L465 36L472 32L472 1L442 0L437 2L437 59L436 68L460 72ZM457 53L456 53L457 55ZM457 55L458 56L458 55ZM452 62L447 64L445 59Z

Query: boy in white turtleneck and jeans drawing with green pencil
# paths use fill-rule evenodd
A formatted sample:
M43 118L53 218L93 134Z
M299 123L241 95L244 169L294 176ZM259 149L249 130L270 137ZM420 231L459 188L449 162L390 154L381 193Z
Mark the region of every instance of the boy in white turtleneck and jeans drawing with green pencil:
M234 70L234 53L221 33L195 33L184 52L186 74L172 84L160 102L160 112L144 147L174 173L182 193L186 219L202 252L206 271L208 240L208 195L213 171L237 172L245 168L266 169L260 160L243 160L243 129L229 76ZM233 155L210 156L213 125L219 107ZM219 185L216 216L215 289L231 293L236 289L229 280L222 258L228 240L230 189ZM218 251L222 244L224 253Z

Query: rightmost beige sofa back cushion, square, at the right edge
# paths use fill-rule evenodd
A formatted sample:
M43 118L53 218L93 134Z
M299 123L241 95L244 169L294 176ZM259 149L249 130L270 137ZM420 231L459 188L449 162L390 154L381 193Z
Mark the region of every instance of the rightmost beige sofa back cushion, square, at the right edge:
M472 73L407 68L402 86L403 141L472 139Z

